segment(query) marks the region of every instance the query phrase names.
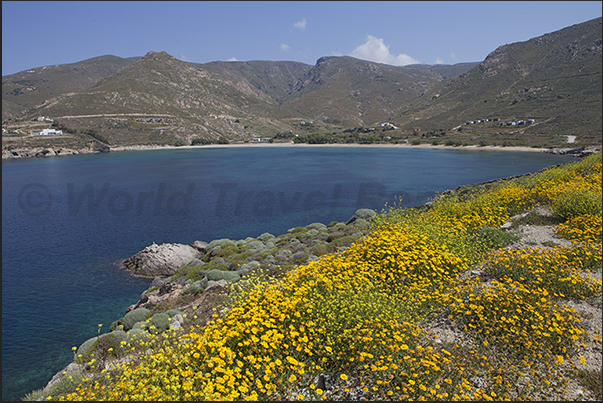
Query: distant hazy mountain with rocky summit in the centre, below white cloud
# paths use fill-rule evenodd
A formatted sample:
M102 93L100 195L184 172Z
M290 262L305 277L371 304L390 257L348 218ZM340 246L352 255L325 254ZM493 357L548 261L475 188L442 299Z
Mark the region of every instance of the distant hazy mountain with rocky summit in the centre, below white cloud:
M471 66L460 66L460 71ZM322 57L300 78L283 105L315 120L346 127L369 125L405 110L442 80L433 66L399 67L347 56Z

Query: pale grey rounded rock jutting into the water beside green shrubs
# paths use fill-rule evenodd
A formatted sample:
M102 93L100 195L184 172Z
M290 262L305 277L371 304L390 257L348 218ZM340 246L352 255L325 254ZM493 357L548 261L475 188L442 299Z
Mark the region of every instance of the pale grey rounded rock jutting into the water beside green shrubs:
M171 276L180 267L202 253L190 245L179 243L153 243L124 261L124 267L136 276L154 278Z

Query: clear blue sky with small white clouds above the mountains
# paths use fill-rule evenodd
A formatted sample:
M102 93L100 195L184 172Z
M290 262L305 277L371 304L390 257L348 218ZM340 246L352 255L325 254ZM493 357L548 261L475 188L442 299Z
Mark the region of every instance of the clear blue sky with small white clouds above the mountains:
M482 61L497 47L601 16L601 1L3 1L2 75L102 55L185 61L348 55Z

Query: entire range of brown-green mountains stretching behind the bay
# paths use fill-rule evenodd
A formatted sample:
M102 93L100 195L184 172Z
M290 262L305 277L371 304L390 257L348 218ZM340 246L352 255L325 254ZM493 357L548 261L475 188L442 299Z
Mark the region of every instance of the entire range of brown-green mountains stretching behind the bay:
M601 144L601 37L597 18L452 66L101 56L3 77L3 146L40 143L23 136L50 125L27 123L39 116L80 146L273 136L540 147L577 136L577 145ZM478 119L488 121L467 124ZM521 120L533 124L500 126Z

